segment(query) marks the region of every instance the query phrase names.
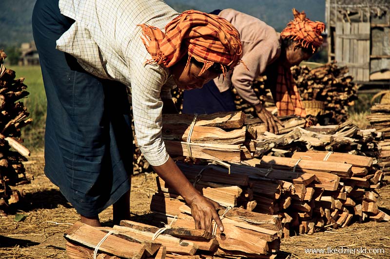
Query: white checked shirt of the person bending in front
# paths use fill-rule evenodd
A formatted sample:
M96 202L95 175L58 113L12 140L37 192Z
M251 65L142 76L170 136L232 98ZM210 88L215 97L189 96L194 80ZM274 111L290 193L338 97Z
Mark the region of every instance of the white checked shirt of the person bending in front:
M161 134L161 98L172 98L175 83L167 68L145 64L151 56L137 24L164 30L178 13L162 0L59 0L59 9L75 22L57 40L57 49L75 56L87 72L131 88L138 145L152 166L164 164L169 155Z

